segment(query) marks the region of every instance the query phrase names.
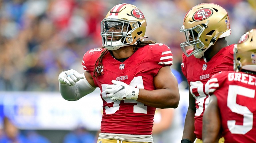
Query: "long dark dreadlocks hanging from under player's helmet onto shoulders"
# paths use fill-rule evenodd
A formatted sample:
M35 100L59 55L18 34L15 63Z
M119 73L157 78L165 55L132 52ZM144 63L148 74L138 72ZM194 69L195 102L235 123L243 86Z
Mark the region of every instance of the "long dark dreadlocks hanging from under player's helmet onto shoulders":
M140 47L144 47L146 45L149 45L149 44L155 44L157 42L155 41L152 41L152 40L147 40L147 41L141 41L139 42L138 44L136 45L133 45L133 50L134 52L137 51ZM104 47L101 47L101 48L104 48ZM102 70L103 68L103 64L102 64L102 59L103 59L103 56L106 55L108 53L108 49L105 49L101 54L100 56L98 57L98 59L96 60L95 62L95 68L94 68L94 71L93 71L93 77L97 79L98 76L101 75L100 71Z

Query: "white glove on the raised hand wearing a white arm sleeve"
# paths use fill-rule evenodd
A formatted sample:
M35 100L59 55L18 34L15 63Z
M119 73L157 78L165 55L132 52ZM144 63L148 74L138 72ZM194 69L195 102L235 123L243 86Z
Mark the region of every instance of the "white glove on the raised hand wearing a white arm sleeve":
M76 82L84 78L84 73L79 74L77 71L70 69L60 73L59 82L61 84L67 84L68 86L74 86Z

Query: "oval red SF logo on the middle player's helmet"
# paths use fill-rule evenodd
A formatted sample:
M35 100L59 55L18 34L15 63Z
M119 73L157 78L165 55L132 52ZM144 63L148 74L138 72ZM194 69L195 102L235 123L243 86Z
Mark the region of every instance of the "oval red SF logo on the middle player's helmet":
M193 15L193 20L195 21L201 21L206 18L209 18L213 14L213 11L211 9L200 9Z

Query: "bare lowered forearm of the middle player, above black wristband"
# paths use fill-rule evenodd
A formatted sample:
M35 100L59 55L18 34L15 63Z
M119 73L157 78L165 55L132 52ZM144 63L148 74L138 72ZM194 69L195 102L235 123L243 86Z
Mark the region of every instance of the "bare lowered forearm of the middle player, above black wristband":
M189 139L191 142L194 142L196 139L196 136L194 134L194 110L189 108L186 119L185 119L185 125L183 130L183 139Z

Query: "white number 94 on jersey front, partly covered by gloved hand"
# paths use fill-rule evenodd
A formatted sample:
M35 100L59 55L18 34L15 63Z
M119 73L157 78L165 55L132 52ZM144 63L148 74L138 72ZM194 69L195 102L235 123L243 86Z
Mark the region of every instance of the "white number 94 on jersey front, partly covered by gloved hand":
M114 114L117 110L119 110L120 106L120 102L121 101L113 101L111 100L110 98L107 97L107 94L106 94L106 86L107 84L103 84L101 85L102 87L102 92L101 92L101 95L102 95L102 98L107 102L107 103L114 103L113 104L113 107L108 107L108 106L105 106L104 108L106 109L106 114ZM139 76L139 77L134 77L133 80L131 81L130 83L130 86L132 87L137 87L139 89L144 89L144 85L143 85L143 80L142 80L142 76ZM133 112L134 113L144 113L144 114L147 114L147 106L145 106L145 104L143 103L140 103L140 102L137 102L136 100L133 100L133 99L126 99L124 100L124 103L137 103L137 105L134 105L133 106Z

